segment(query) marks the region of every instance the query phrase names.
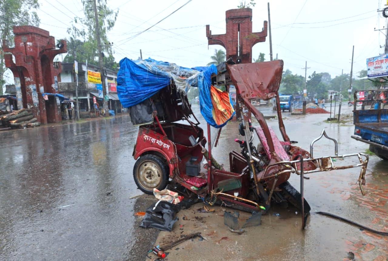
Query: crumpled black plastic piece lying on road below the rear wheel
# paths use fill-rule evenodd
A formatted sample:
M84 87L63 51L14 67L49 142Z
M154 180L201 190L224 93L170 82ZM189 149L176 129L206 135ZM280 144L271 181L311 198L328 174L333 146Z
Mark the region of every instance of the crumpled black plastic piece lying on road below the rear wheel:
M145 216L140 224L141 228L157 228L171 231L178 218L175 217L180 207L167 201L158 201L145 211Z

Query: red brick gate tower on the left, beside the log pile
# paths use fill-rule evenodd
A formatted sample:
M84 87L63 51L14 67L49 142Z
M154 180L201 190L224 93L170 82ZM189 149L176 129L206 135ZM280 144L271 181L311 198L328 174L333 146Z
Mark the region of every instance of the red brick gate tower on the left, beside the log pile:
M42 93L58 92L57 76L62 67L53 60L55 55L67 52L66 41L61 40L56 49L54 36L35 26L14 26L14 35L15 47L9 48L8 41L3 40L3 50L5 66L15 78L17 107L31 108L42 124L60 122L59 99L48 95L45 100Z

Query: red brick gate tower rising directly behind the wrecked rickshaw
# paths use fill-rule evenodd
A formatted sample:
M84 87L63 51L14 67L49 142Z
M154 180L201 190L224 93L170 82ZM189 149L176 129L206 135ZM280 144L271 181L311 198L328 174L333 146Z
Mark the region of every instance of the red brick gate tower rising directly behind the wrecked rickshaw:
M209 45L222 45L226 49L226 58L232 57L234 62L252 62L252 47L265 41L267 37L267 21L261 32L252 33L252 9L230 9L226 11L226 34L211 35L210 26L206 26Z

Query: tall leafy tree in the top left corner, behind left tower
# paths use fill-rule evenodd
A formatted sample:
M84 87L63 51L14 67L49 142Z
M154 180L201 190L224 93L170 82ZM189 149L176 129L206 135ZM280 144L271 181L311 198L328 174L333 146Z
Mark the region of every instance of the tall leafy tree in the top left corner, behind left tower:
M14 34L13 26L33 25L39 26L39 17L36 9L39 8L38 0L1 0L0 1L0 95L3 94L4 84L4 53L2 39L12 45Z

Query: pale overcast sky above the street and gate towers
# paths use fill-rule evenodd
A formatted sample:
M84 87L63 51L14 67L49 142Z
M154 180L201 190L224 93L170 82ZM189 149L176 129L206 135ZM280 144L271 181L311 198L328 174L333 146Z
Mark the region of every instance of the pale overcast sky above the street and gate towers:
M76 14L84 17L81 0L39 0L40 27L55 38L66 38L66 28ZM236 8L238 0L192 0L176 13L141 35L187 0L108 0L111 9L118 9L116 25L109 32L114 57L143 58L174 62L180 66L204 66L210 62L214 49L208 47L205 25L213 34L225 33L225 11ZM247 1L248 2L248 1ZM261 31L268 20L267 2L256 0L253 7L253 31ZM385 35L374 28L383 28L386 19L377 12L384 0L274 0L271 7L274 57L284 60L284 69L304 76L305 61L311 67L307 75L328 72L332 78L350 72L352 46L354 71L366 68L365 59L381 54ZM51 4L50 4L51 3ZM65 5L71 12L65 9ZM73 14L74 13L74 14ZM53 18L55 17L55 19ZM181 28L181 29L176 29ZM163 30L167 29L167 30ZM260 52L269 60L269 38L253 47L253 57Z

